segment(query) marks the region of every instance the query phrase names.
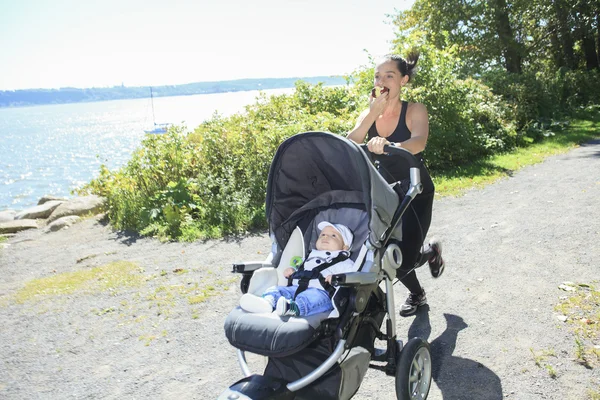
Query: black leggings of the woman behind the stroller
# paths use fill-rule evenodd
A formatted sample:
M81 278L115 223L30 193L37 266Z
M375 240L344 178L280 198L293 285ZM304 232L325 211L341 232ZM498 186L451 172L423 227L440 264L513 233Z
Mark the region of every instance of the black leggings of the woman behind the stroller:
M431 225L434 194L432 191L415 197L402 216L402 242L398 243L402 250L402 265L396 270L396 277L414 294L421 293L423 289L416 272L407 272L420 265L421 248Z

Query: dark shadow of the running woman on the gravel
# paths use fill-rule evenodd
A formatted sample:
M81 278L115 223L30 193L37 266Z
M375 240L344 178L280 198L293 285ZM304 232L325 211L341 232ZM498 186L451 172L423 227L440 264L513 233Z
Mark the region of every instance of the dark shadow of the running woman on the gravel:
M457 315L444 314L446 329L430 342L433 380L444 399L500 400L500 378L485 365L454 354L458 333L469 326ZM429 307L421 307L408 330L408 337L428 340L431 335Z

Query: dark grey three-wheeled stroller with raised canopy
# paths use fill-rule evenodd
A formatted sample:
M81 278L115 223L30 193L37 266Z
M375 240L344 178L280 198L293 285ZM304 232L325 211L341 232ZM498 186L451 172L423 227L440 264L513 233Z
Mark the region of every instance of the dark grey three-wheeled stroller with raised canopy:
M393 281L402 254L390 241L401 240L401 217L422 190L419 164L408 151L387 146L390 156L410 166L410 187L390 185L362 147L331 133L306 132L277 150L266 197L272 249L266 261L234 264L242 292L260 296L287 285L283 270L314 248L321 221L353 231L350 258L357 272L333 275L331 312L290 318L232 310L225 333L245 378L219 399L349 399L369 367L395 376L398 399L427 398L429 344L396 337ZM386 348L376 348L375 339ZM263 375L250 372L245 352L267 357Z

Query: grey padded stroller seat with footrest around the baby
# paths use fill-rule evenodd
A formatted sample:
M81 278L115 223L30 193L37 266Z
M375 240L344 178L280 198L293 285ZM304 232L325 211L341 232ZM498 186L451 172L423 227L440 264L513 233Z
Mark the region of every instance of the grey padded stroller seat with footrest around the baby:
M337 195L339 196L340 193ZM352 197L351 193L341 193L341 195L345 195L346 198ZM287 279L283 278L281 271L290 266L294 257L304 258L306 249L314 248L318 238L317 225L321 221L342 223L353 231L354 241L350 258L355 262L355 270L360 269L364 257L364 251L361 256L360 250L368 233L366 212L352 207L325 210L322 210L322 207L316 207L315 211L315 205L322 205L321 203L330 200L330 195L318 197L315 200L291 216L290 223L297 225L288 240L277 268L267 266L254 271L248 288L249 293L260 296L270 286L287 285ZM314 212L318 213L311 218ZM308 223L305 221L307 217L310 219ZM304 233L302 227L305 228ZM289 251L290 248L295 251ZM302 252L299 253L299 250ZM302 350L323 333L321 323L326 319L339 316L339 307L347 302L346 296L347 291L338 290L332 299L333 311L303 317L280 317L275 313L248 313L238 306L227 316L225 334L229 342L240 350L264 356L286 357Z

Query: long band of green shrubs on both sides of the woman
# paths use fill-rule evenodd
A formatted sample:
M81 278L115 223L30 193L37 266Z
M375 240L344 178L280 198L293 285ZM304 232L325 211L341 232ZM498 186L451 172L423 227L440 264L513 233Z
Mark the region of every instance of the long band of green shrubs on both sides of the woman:
M429 110L426 158L434 173L541 140L553 121L600 103L598 71L489 70L459 79L461 69L452 49L423 44L419 72L404 94ZM345 86L299 81L293 94L262 94L245 112L215 114L191 133L175 127L148 136L125 166L103 166L80 192L107 197L117 229L165 240L263 229L279 144L311 130L345 135L368 106L372 76L372 67L362 67Z

